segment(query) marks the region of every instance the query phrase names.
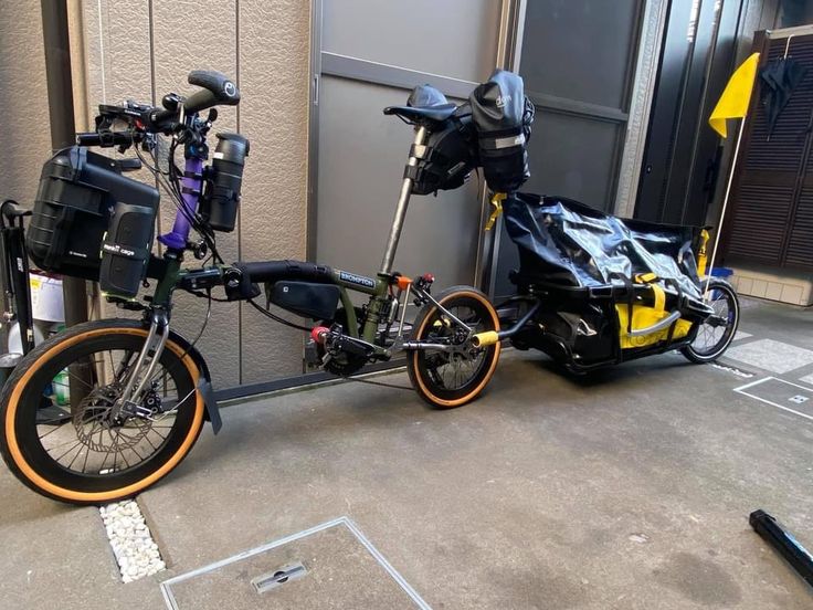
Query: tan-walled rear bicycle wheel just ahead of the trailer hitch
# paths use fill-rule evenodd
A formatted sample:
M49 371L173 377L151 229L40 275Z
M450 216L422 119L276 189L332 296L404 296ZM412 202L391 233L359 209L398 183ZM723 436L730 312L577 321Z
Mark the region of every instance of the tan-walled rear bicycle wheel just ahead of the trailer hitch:
M476 332L499 330L499 318L488 297L471 286L453 286L443 291L436 301L463 322L475 322ZM469 319L461 317L460 312L468 311ZM451 326L443 322L443 312L430 303L425 305L413 324L413 340L433 340L451 333ZM440 324L440 326L437 326ZM452 324L454 324L452 322ZM435 409L451 409L474 400L486 387L499 360L500 345L472 349L467 355L456 355L455 361L440 351L415 350L406 359L406 370L412 386L419 396ZM461 361L472 362L463 382L444 382L439 374L441 367L450 367Z

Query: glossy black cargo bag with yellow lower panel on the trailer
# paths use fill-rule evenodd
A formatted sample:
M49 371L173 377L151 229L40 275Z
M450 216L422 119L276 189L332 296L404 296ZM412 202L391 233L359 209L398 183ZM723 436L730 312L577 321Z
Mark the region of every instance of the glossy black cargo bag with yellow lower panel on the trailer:
M571 199L522 192L508 197L503 210L519 250L518 282L605 295L622 348L685 337L693 322L708 315L694 254L701 228L620 219ZM642 294L647 298L636 298ZM672 328L632 336L667 317L667 309L682 314Z

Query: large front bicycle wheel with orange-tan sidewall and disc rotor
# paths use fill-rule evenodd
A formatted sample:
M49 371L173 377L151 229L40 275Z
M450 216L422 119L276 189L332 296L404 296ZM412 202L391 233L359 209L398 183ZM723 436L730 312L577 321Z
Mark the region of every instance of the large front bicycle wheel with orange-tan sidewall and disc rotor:
M91 322L56 335L22 359L0 393L0 453L14 476L46 497L72 504L104 504L136 495L186 458L202 429L204 404L197 391L199 368L178 339L168 338L157 369L161 376L154 377L151 395L144 395L149 396L151 404L165 401L168 408L154 411L151 419L131 417L123 423L105 419L109 412L105 409L115 400L115 388L120 387L116 378L128 370L135 360L133 354L138 354L146 336L147 329L139 322ZM117 359L118 353L123 356ZM81 375L76 375L77 367L84 367ZM73 400L61 418L43 421L43 397L63 372L66 377L62 383L89 389L77 391L84 398ZM172 407L169 401L173 401ZM46 404L53 412L54 404ZM167 430L166 435L161 430ZM46 440L53 433L56 437ZM71 454L63 462L56 453L73 443L70 438L63 446L59 444L71 434L80 444L71 445L70 451L78 453L66 464ZM128 451L133 452L131 462L125 458ZM77 458L83 452L80 471L78 464L76 469L73 464L83 461Z

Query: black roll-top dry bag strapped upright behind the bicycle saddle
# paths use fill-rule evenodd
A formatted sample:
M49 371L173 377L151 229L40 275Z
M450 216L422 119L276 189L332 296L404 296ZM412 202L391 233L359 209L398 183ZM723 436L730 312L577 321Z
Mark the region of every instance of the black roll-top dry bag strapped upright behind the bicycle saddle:
M522 78L498 70L468 102L488 187L497 192L517 190L530 177L526 148L534 122L534 104L525 96Z

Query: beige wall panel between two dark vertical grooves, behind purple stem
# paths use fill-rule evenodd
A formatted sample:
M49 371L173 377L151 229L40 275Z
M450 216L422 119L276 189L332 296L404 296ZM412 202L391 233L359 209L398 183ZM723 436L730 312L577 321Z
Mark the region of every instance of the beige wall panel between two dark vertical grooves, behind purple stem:
M152 31L156 103L170 92L188 95L197 87L187 83L192 70L217 70L236 78L236 6L234 0L154 0ZM237 130L237 111L220 107L210 143L214 150L218 132ZM183 162L178 154L179 165ZM166 232L175 219L175 207L165 198L161 228ZM237 231L218 234L218 249L229 263L237 259ZM187 264L194 263L188 256ZM222 296L220 294L219 296ZM205 301L178 292L172 327L193 339L203 323ZM240 305L212 304L212 317L198 347L207 358L215 388L236 386L240 379Z

